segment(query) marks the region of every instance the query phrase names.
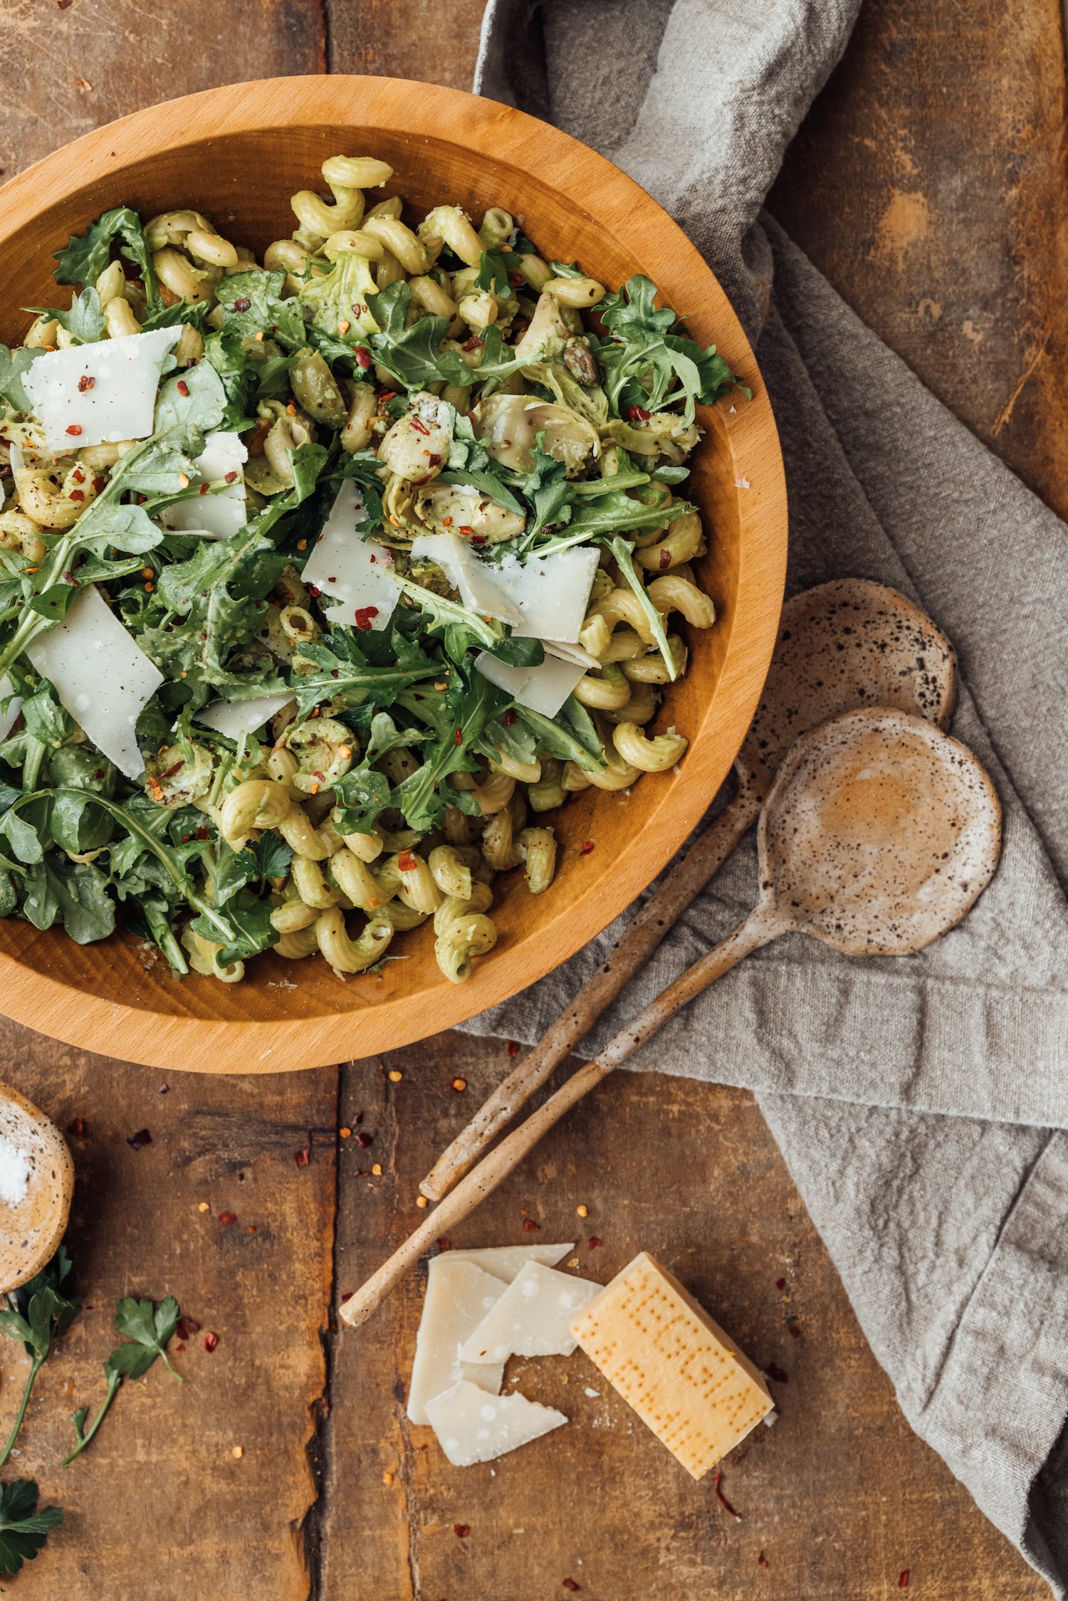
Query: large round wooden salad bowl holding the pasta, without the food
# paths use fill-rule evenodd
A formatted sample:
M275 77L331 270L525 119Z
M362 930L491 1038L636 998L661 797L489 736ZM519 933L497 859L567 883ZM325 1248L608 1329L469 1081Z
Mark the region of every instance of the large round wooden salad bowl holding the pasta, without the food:
M240 985L170 972L139 940L78 946L0 919L0 1007L32 1028L112 1057L202 1073L277 1073L395 1049L452 1028L567 961L648 885L727 776L772 656L786 567L786 490L772 407L727 296L697 248L637 184L568 134L508 106L395 78L269 78L135 112L3 186L0 339L22 306L54 301L53 251L101 211L205 211L261 251L293 227L290 195L319 189L335 154L379 155L386 194L421 216L439 202L509 210L546 256L578 259L616 287L647 274L664 303L716 343L753 389L703 411L687 495L703 512L700 564L719 620L690 639L690 669L661 708L690 749L676 773L632 792L586 789L556 821L559 871L544 895L512 876L493 905L496 949L452 985L432 932L397 940L404 961L343 983L319 957L266 953ZM583 842L592 850L583 853Z

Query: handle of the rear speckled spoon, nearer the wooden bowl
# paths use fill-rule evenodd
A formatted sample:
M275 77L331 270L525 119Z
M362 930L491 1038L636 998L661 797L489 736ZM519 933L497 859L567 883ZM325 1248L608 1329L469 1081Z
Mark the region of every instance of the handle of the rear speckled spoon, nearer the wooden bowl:
M634 916L608 959L586 980L573 1001L541 1036L538 1044L482 1103L471 1122L460 1130L437 1159L420 1190L440 1201L477 1161L480 1153L511 1122L556 1066L597 1023L621 989L645 965L668 930L700 895L757 820L761 800L751 788L740 788L730 805L708 825L687 853L674 865L656 893Z

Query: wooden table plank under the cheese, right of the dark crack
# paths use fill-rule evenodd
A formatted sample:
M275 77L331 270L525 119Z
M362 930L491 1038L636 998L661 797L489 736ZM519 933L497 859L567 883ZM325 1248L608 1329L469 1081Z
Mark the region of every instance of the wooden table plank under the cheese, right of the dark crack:
M339 1290L418 1220L420 1174L508 1061L500 1041L440 1036L344 1069L341 1116L363 1113L375 1143L349 1142L341 1154ZM391 1068L404 1073L399 1084ZM458 1071L463 1093L450 1089ZM383 1177L359 1177L371 1159ZM524 1231L524 1214L540 1233ZM567 1595L565 1577L589 1601L874 1601L897 1595L905 1569L909 1593L925 1601L1046 1595L909 1433L748 1095L616 1073L453 1244L532 1238L575 1239L578 1271L602 1284L650 1250L759 1367L786 1375L772 1380L780 1422L724 1463L741 1523L581 1351L512 1359L506 1372L506 1390L517 1375L524 1394L570 1417L567 1428L493 1465L450 1468L432 1431L404 1415L416 1271L368 1324L330 1338L320 1601L532 1601ZM592 1250L591 1238L600 1239Z

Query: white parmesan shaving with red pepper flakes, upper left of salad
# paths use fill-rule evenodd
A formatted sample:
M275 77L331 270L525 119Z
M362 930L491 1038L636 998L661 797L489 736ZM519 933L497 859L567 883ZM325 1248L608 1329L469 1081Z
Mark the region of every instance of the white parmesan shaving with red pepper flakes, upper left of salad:
M163 357L181 328L125 333L98 344L50 351L22 375L22 387L54 453L147 439Z

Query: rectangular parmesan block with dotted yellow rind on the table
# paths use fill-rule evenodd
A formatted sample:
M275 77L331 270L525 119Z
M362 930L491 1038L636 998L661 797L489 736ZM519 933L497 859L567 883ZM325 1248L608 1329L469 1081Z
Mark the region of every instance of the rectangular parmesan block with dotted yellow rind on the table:
M748 1356L647 1252L575 1318L572 1334L695 1479L773 1407Z

